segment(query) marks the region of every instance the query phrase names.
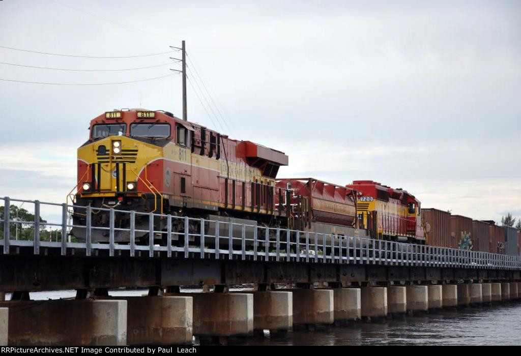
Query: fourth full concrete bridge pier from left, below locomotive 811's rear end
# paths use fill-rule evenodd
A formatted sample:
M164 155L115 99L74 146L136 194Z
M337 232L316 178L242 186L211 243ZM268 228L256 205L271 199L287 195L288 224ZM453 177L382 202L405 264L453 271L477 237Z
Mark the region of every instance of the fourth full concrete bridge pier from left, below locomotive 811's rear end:
M293 327L293 294L290 291L253 292L253 329L284 334Z

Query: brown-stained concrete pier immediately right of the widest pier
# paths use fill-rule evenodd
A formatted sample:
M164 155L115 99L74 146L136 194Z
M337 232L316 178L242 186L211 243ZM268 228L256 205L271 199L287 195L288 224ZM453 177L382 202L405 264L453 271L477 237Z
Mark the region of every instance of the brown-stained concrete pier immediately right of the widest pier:
M192 297L117 297L126 300L128 345L191 345Z

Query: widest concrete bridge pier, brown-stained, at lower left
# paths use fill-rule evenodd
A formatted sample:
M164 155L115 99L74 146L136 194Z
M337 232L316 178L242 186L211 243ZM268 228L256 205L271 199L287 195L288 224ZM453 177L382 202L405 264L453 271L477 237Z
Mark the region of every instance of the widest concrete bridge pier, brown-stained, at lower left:
M10 346L127 345L126 300L4 301L3 307Z

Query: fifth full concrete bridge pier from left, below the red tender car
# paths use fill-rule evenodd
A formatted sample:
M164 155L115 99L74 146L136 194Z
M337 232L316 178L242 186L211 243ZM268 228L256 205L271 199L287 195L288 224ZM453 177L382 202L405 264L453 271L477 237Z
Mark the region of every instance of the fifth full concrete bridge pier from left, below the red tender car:
M293 289L293 325L324 326L334 323L332 289Z

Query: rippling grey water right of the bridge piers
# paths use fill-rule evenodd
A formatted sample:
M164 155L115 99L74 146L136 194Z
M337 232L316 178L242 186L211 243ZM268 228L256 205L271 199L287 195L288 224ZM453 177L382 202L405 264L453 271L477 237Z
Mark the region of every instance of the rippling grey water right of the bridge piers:
M521 345L521 304L357 322L284 339L252 337L247 345Z

